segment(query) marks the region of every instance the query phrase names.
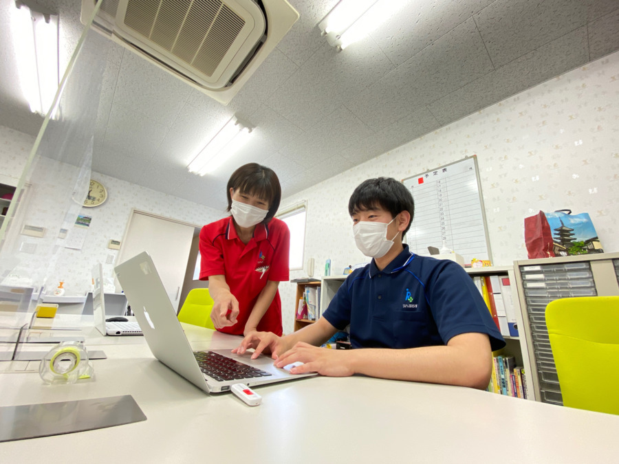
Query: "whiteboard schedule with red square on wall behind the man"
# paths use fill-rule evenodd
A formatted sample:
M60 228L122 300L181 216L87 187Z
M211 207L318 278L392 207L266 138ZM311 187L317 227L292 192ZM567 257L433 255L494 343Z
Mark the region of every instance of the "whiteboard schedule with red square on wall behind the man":
M412 252L429 256L428 246L492 261L477 157L466 157L402 180L413 194L415 214L406 233Z

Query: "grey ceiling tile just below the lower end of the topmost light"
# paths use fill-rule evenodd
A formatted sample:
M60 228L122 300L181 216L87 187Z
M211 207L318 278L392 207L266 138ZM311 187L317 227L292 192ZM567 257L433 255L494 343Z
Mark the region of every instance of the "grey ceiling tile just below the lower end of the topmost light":
M267 104L307 130L391 69L391 62L369 38L364 47L351 46L344 52L325 41Z

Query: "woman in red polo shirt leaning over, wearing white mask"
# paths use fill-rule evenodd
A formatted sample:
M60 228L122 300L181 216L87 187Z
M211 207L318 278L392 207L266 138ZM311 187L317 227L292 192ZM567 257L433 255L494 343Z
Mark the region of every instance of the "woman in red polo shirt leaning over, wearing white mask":
M230 217L200 232L200 279L215 301L210 318L218 331L282 334L279 283L288 280L290 231L275 219L279 179L256 163L241 166L226 189Z

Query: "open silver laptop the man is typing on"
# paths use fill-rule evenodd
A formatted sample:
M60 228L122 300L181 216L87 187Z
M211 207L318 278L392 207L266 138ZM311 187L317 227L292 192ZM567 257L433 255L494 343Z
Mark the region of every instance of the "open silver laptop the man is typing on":
M142 252L116 266L115 270L153 355L207 393L228 391L234 384L257 386L316 375L291 374L276 368L268 356L261 355L251 360L249 355L237 355L230 349L194 353L151 256ZM214 335L219 340L232 338L241 342L237 335L219 332ZM214 367L216 364L217 367ZM228 378L231 376L228 370L230 365L237 374L232 375L233 378Z

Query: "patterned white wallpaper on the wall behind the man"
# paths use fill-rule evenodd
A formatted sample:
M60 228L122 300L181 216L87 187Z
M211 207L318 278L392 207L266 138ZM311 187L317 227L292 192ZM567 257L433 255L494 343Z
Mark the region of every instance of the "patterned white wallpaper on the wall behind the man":
M523 221L539 210L588 212L602 247L619 251L619 52L548 80L282 201L307 199L305 261L314 275L367 261L348 199L370 177L404 179L477 155L495 265L526 259ZM441 244L438 243L437 246ZM457 251L457 250L456 250ZM291 278L306 276L291 272ZM295 285L282 283L284 331Z

